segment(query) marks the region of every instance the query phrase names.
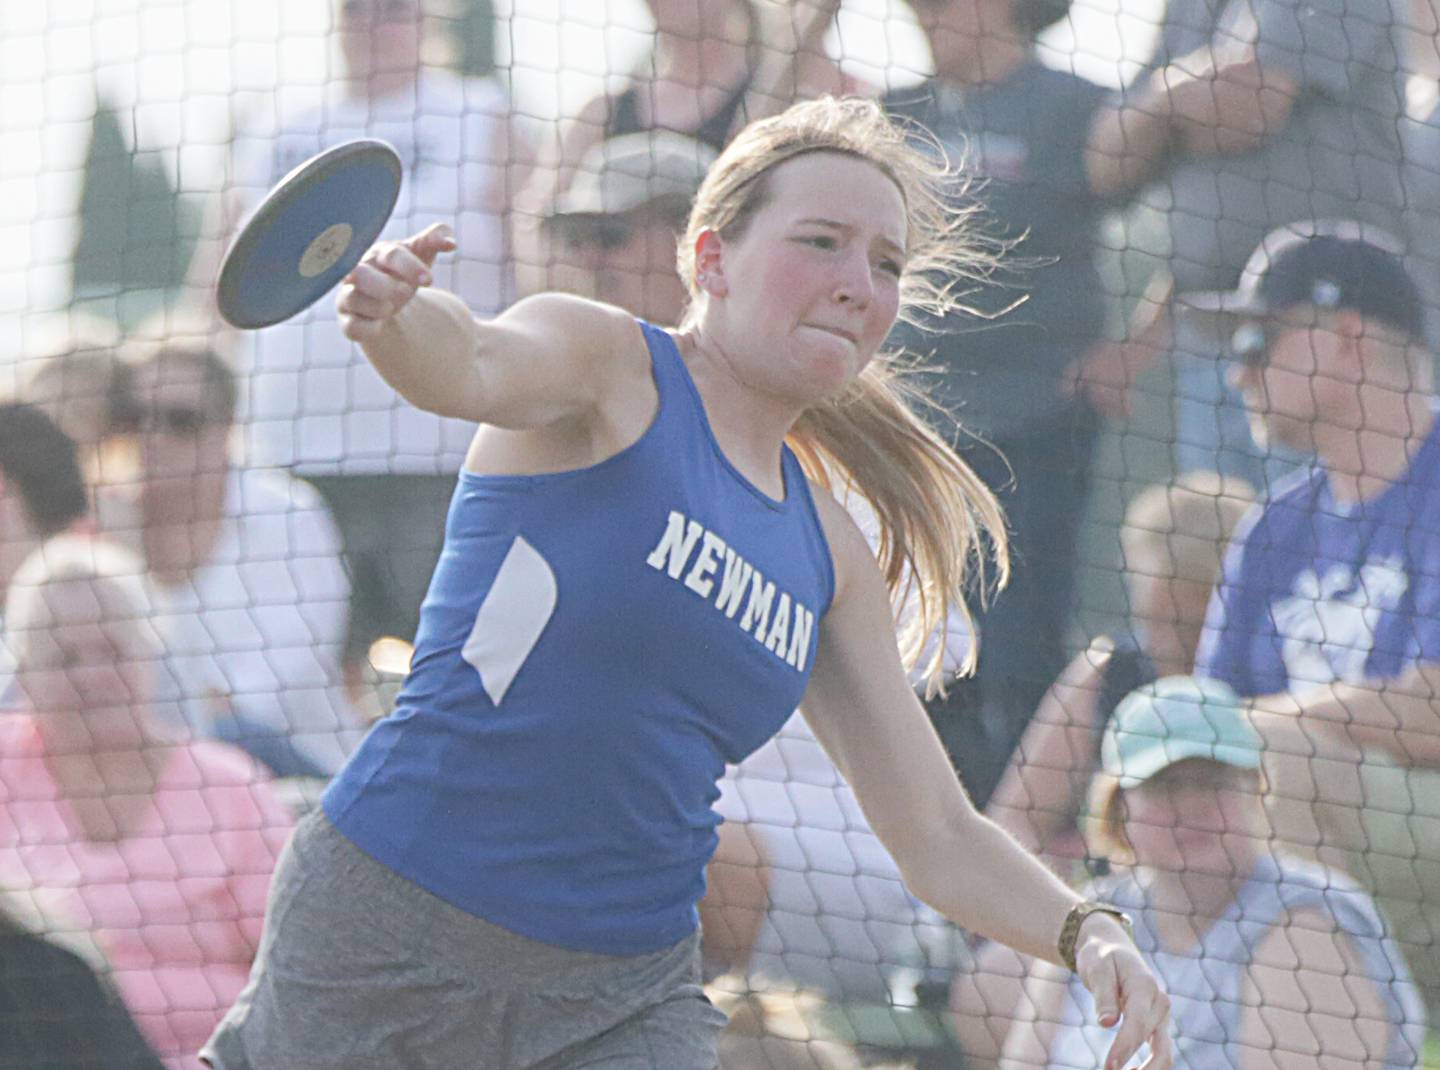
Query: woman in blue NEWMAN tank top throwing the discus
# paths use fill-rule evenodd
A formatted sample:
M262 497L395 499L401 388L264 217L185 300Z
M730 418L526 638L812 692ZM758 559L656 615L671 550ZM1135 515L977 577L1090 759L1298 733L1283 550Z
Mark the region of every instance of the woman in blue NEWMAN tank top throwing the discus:
M348 336L482 426L396 713L292 841L213 1066L711 1070L716 783L796 706L920 899L1079 966L1113 1066L1169 1066L1122 923L975 812L896 648L886 573L913 565L923 637L1002 541L878 356L988 264L943 180L874 104L753 124L697 194L675 333L554 294L477 321L426 287L442 228L366 255Z

